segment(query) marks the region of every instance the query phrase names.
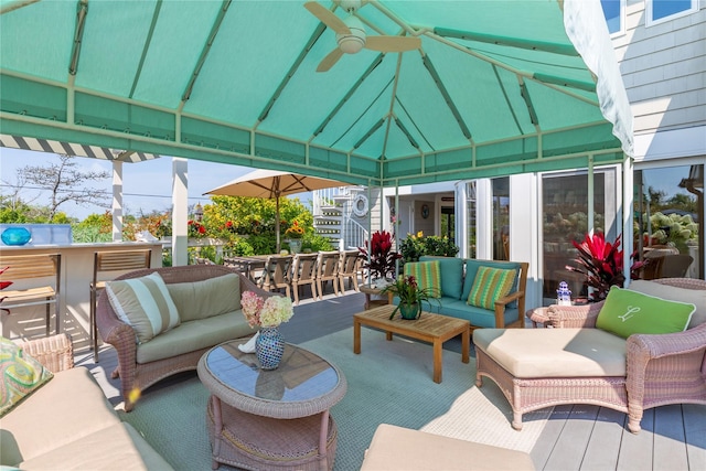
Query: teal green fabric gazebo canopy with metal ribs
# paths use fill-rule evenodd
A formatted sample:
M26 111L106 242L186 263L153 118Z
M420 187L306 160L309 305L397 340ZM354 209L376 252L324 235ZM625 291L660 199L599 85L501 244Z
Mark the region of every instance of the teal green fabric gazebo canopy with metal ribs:
M320 3L420 49L319 73L302 1L2 0L2 133L383 185L632 152L599 0Z

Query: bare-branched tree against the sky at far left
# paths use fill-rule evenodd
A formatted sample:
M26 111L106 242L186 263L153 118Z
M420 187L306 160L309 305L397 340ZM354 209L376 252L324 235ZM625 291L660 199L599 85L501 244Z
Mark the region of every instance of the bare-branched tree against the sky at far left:
M56 222L58 207L73 201L79 205L95 204L108 207L107 195L101 190L86 186L86 183L107 179L106 171L86 171L77 169L77 162L71 156L58 156L58 163L49 167L25 165L18 169L18 182L31 184L52 193L49 204L49 222Z

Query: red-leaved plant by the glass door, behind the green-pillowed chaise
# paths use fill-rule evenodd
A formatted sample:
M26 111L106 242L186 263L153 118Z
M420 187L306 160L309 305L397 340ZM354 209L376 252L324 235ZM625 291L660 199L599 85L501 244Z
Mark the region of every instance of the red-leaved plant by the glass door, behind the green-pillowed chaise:
M584 242L579 244L574 240L573 244L578 250L578 258L574 260L578 267L567 265L566 269L586 276L586 283L593 288L591 301L606 299L611 286L622 288L625 276L622 272L623 251L620 249L620 236L611 244L606 242L603 233L590 232L586 234ZM632 257L634 255L632 254ZM632 264L632 278L638 278L638 270L642 265L642 261Z

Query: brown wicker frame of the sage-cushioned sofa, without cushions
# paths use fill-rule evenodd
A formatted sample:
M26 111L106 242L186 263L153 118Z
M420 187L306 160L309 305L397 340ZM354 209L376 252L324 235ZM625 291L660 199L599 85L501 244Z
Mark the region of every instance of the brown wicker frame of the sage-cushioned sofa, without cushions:
M164 267L131 271L122 275L117 280L139 278L151 272L159 272L165 283L180 283L188 281L202 281L210 278L220 277L226 274L234 274L233 269L221 265L189 265L183 267ZM255 291L261 297L279 296L275 292L267 292L258 288L249 278L243 274L237 274L240 280L240 292ZM210 345L192 352L178 354L163 360L138 363L136 344L136 333L132 328L124 323L113 310L106 292L100 293L96 311L96 323L100 338L111 344L118 353L118 367L113 372L113 377L120 377L120 389L125 400L125 410L130 411L133 403L130 400L130 393L133 389L145 390L159 381L176 373L196 370L199 360L208 351Z

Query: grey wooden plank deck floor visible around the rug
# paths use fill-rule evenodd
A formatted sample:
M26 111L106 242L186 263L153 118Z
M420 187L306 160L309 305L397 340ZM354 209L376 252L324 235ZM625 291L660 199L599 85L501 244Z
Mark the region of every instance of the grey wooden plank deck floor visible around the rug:
M363 303L364 296L353 291L339 298L327 295L323 301L304 300L295 308L295 317L281 325L282 334L288 342L301 343L347 329ZM443 346L460 353L460 345L459 338ZM90 353L79 352L76 365L93 372L111 404L120 403L119 381L110 378L117 365L111 346L100 349L98 364ZM536 469L544 470L706 470L706 406L649 409L642 428L639 435L630 433L625 415L611 409L558 406L532 450L532 459Z

